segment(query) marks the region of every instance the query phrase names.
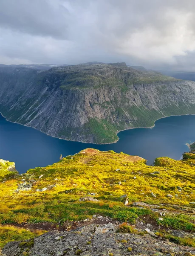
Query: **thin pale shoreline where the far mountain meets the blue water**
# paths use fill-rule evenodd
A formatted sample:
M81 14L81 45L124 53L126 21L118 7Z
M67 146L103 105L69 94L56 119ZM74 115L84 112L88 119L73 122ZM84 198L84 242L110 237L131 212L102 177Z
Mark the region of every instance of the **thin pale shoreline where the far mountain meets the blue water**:
M1 112L0 112L0 115L3 116L3 114L2 114ZM195 116L195 114L170 115L170 116ZM155 127L155 122L156 122L156 121L158 121L158 120L160 120L160 119L163 119L163 118L170 117L170 116L163 116L163 117L161 117L161 118L156 119L156 120L154 121L154 124L153 124L152 126L149 126L149 127L127 128L127 129L124 129L124 130L117 131L116 135L119 134L121 131L127 131L127 130L132 130L132 129L140 129L140 128L144 128L144 129L149 129L149 128L150 128L150 129L152 129L152 128ZM14 123L14 124L18 124L18 125L23 125L23 124L21 124L21 123L19 123L19 122L12 122L12 121L8 120L8 119L6 118L6 116L3 116L3 118L5 118L6 121L8 121L8 122L11 122L11 123ZM67 140L67 141L72 141L72 142L85 143L85 144L109 145L109 144L117 143L117 142L120 140L119 136L118 136L118 139L117 139L117 140L115 140L115 141L113 141L113 142L110 142L110 143L93 143L93 142L83 142L83 141L78 141L78 140L68 140L68 139L62 139L62 138L59 138L59 137L55 137L55 136L52 136L52 135L48 135L48 134L46 134L45 132L43 132L43 131L41 131L41 130L38 130L37 128L34 128L34 127L30 126L30 125L23 125L23 126L33 128L33 129L35 129L36 131L40 131L40 132L42 132L43 134L45 134L45 135L47 135L47 136L49 136L49 137L52 137L52 138L56 138L56 139L59 139L59 140ZM192 144L193 144L193 143L191 143L191 144L186 143L186 145L188 146L189 150L190 150L190 145L192 145Z

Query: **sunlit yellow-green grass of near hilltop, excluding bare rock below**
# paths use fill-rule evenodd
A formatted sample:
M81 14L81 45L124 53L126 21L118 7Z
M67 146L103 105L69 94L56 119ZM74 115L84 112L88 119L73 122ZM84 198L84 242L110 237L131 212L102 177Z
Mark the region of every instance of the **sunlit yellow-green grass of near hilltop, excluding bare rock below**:
M30 239L45 232L17 226L47 221L61 227L93 215L129 224L147 216L162 228L195 232L193 211L187 211L188 207L195 208L195 154L185 153L184 160L179 161L160 157L154 164L147 166L143 158L122 152L88 148L23 175L1 167L0 247L8 241ZM29 191L16 192L20 184L30 183ZM47 190L40 191L43 188ZM124 206L124 194L130 207ZM99 201L79 201L85 196ZM158 205L158 209L169 213L159 221L159 214L149 207L133 207L133 202L140 201Z

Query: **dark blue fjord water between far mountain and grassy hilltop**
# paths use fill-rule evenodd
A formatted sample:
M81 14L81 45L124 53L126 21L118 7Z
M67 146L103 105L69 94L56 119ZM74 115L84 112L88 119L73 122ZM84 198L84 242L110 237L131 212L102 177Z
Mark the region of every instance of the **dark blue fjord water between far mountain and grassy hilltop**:
M15 162L20 173L55 163L60 154L65 157L85 148L138 155L150 165L156 157L178 160L182 153L189 151L186 143L195 141L195 115L162 118L153 128L121 131L118 136L117 143L107 145L59 140L0 116L0 158Z

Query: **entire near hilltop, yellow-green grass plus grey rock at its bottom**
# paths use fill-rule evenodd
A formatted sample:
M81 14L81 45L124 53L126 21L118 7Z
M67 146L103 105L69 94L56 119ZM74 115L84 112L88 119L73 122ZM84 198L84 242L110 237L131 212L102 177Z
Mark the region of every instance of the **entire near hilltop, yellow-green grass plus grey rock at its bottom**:
M93 254L97 232L107 236L102 224L103 230L116 229L116 235L105 239L115 239L116 245ZM93 232L83 241L88 227ZM73 236L80 244L71 247L70 237L63 240L64 236ZM10 241L20 242L7 244ZM36 249L40 241L42 254ZM48 249L49 243L57 243L57 249ZM65 243L69 249L60 249ZM23 175L15 171L14 163L0 161L0 247L6 256L193 255L195 154L185 153L178 161L160 157L147 166L138 156L88 148Z

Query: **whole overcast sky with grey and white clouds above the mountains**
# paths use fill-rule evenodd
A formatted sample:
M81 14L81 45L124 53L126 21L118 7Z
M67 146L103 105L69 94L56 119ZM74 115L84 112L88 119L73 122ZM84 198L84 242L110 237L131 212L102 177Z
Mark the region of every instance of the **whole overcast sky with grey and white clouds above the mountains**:
M0 63L195 71L194 0L0 0Z

